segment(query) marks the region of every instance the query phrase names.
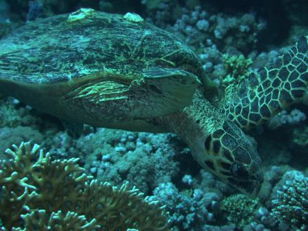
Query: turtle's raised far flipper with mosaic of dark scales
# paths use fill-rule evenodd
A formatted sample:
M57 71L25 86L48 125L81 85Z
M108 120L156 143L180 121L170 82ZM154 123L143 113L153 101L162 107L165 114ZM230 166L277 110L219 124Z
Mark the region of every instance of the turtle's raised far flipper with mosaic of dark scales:
M303 98L308 88L307 40L308 36L302 36L273 64L227 87L220 102L222 113L248 130Z

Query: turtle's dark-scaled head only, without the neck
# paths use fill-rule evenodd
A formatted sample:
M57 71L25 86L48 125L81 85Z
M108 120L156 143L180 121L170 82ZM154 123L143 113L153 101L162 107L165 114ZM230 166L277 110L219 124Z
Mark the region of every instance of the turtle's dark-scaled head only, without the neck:
M244 133L231 120L224 120L205 139L203 165L242 193L257 196L263 182L261 159Z

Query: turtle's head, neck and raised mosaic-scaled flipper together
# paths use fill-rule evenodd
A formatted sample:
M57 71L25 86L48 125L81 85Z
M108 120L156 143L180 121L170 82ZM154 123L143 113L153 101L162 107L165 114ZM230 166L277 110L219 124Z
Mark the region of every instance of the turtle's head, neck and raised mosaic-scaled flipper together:
M228 87L218 110L198 91L192 105L154 123L181 136L209 172L253 197L263 181L261 159L240 128L257 126L299 100L307 92L307 65L303 36L274 64Z

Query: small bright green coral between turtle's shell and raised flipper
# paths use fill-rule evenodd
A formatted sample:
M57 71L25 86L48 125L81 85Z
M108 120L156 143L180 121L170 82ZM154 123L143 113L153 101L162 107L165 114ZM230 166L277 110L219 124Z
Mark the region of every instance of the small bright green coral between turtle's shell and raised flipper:
M224 70L227 75L220 77L220 85L227 87L231 83L239 83L247 74L248 68L253 61L247 59L244 55L222 55L222 62L224 64Z

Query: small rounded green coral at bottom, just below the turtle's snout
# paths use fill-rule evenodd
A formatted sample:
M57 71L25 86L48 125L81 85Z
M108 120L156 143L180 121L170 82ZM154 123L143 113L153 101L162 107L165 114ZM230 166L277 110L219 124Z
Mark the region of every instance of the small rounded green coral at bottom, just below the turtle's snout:
M231 195L220 203L224 217L239 228L244 228L253 221L259 207L259 200L248 198L244 194Z

